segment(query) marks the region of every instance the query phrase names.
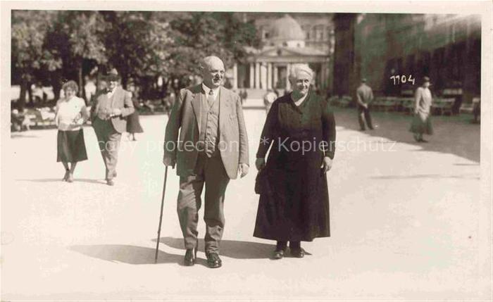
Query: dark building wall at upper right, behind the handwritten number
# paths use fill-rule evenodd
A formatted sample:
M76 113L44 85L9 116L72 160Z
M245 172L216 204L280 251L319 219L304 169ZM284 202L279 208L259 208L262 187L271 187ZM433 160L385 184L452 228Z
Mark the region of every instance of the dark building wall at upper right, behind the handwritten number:
M415 89L424 75L433 91L480 95L481 23L476 15L335 14L334 90L352 95L361 77L376 94ZM394 85L392 75L415 84Z

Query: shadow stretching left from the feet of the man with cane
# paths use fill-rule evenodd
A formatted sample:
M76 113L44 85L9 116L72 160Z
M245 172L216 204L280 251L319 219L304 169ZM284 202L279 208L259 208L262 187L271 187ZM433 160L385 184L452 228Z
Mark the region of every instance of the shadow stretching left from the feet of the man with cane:
M69 246L70 251L82 253L85 256L127 264L154 264L156 250L142 246L119 244L100 244L90 246ZM158 263L182 263L183 256L158 251Z

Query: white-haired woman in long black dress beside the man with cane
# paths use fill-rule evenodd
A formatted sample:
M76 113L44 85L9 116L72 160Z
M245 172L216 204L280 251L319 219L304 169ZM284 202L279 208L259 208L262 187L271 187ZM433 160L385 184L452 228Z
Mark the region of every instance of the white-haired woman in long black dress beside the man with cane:
M311 92L312 77L308 65L292 66L293 92L274 101L256 154L254 237L277 241L274 259L285 255L288 241L291 255L302 258L301 241L330 237L325 173L335 153L335 119L328 103Z

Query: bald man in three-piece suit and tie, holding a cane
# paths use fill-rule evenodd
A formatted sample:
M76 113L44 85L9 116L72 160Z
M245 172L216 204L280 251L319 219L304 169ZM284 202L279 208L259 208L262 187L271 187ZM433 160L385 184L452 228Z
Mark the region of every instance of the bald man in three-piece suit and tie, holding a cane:
M164 165L180 176L177 213L185 248L185 265L194 265L197 224L205 192L205 251L210 268L219 268L219 244L225 225L223 206L230 179L249 170L248 138L239 96L222 87L225 68L216 56L201 62L203 82L180 90L164 139ZM178 132L180 131L180 137Z

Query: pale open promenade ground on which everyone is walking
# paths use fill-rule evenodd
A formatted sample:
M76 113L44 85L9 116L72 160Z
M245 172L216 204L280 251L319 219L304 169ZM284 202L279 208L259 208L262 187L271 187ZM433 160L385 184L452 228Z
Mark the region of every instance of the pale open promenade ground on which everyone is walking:
M56 130L13 134L2 149L2 300L492 298L479 228L478 125L438 118L437 135L416 144L406 115L375 113L377 130L359 132L356 113L337 110L332 237L304 243L311 255L303 259L269 260L273 241L252 237L265 111L247 109L245 118L251 169L227 188L223 268L216 270L206 267L202 240L198 265L181 265L175 170L154 264L166 115L142 116L144 134L123 140L114 187L104 183L91 127L84 130L89 161L72 184L61 181ZM204 229L201 218L201 238Z

